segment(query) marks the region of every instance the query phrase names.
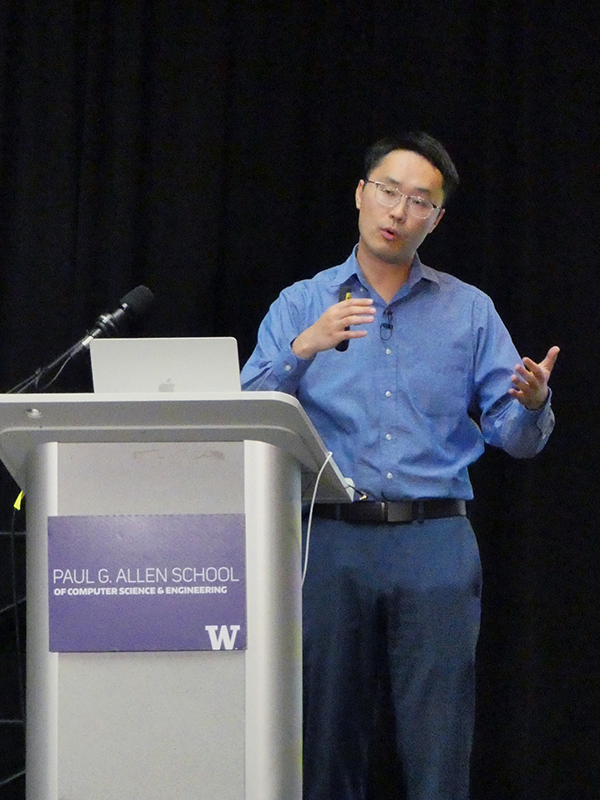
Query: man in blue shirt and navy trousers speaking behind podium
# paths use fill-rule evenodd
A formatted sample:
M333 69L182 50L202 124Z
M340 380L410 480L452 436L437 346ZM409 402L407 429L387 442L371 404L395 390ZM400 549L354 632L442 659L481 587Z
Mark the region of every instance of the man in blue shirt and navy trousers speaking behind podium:
M484 442L541 450L559 351L521 361L486 295L419 260L457 185L427 134L375 144L358 246L281 294L242 373L246 389L298 397L358 491L318 507L311 534L306 800L365 797L382 663L408 800L469 795L481 569L468 465Z

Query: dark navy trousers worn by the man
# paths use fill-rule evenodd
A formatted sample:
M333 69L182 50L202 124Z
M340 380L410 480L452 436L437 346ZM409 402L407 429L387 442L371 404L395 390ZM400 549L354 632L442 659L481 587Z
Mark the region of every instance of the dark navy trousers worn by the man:
M303 590L304 800L364 800L382 659L408 800L468 800L481 566L465 517L314 519Z

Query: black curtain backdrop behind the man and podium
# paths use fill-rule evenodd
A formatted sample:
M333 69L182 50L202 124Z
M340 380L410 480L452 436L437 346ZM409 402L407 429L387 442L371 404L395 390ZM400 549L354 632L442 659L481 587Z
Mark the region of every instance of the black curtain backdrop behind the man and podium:
M447 145L462 186L423 259L488 292L523 355L562 348L545 451L472 470L474 800L600 791L599 78L591 3L0 5L2 391L140 283L157 302L138 334L233 335L243 362L280 289L355 243L366 147L413 128ZM56 389L88 391L88 362ZM0 530L16 492L3 474ZM0 796L22 798L1 784L24 759L4 611L0 643ZM370 800L401 797L385 700Z

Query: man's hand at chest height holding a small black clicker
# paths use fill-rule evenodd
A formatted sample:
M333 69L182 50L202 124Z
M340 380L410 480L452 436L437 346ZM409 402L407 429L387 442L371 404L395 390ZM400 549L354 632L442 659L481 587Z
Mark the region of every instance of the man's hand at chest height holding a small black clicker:
M375 319L370 298L350 298L330 306L314 325L294 339L292 352L298 358L312 358L323 350L331 350L344 339L362 339L364 330L346 330L351 325L366 325Z

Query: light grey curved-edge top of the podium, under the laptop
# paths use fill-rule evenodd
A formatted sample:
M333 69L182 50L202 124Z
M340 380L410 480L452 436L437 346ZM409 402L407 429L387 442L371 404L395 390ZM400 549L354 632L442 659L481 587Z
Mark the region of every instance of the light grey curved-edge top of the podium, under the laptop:
M292 455L305 473L327 457L306 412L281 392L16 394L0 396L0 458L24 487L29 453L46 442L226 442L255 440ZM350 499L335 462L319 499Z

